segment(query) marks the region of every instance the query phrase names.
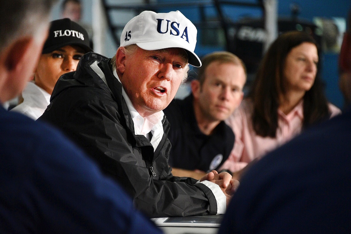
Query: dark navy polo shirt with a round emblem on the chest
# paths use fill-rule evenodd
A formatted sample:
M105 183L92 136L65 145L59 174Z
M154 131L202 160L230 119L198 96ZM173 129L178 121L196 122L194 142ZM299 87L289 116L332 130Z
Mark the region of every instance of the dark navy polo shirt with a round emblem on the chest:
M229 157L234 145L234 133L224 121L210 136L203 134L196 122L193 97L172 100L164 109L170 122L168 139L172 148L169 164L188 170L211 171L218 169Z

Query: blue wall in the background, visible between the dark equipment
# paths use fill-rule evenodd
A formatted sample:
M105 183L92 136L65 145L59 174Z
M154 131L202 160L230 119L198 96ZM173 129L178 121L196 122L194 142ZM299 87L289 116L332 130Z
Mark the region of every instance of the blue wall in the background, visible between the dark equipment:
M257 3L256 0L241 0L244 2ZM319 18L333 18L340 17L347 19L349 9L351 9L350 0L277 0L278 1L278 17L290 17L291 5L297 4L299 6L298 19L313 22L315 17ZM174 2L172 0L159 0L159 2ZM162 9L161 9L162 10ZM180 10L188 19L193 22L198 22L200 19L199 10L192 7L178 7L177 9L163 9L164 12L171 10ZM237 21L245 16L261 17L262 11L254 7L238 7L225 6L223 7L224 14L232 21ZM206 16L217 16L214 7L205 8ZM198 41L201 38L198 36ZM218 46L201 46L198 43L195 52L201 57L206 53L223 50L225 47ZM338 53L323 53L322 62L322 78L326 83L326 96L330 102L339 108L343 108L343 97L338 88Z

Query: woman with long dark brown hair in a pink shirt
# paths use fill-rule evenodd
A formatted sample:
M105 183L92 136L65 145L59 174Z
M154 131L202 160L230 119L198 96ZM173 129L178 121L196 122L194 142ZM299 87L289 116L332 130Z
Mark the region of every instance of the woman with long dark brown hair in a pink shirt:
M317 67L318 46L311 35L287 32L273 42L249 95L226 121L235 143L220 169L240 171L302 129L341 113L327 102Z

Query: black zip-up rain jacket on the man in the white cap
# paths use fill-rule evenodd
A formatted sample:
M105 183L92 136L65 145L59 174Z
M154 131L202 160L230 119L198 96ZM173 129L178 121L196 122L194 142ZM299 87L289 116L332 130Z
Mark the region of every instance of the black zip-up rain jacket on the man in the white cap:
M77 71L62 75L56 83L51 103L39 121L64 131L148 216L217 214L217 201L207 186L172 175L166 117L155 152L144 135L134 134L122 85L112 73L110 60L93 52L82 56Z

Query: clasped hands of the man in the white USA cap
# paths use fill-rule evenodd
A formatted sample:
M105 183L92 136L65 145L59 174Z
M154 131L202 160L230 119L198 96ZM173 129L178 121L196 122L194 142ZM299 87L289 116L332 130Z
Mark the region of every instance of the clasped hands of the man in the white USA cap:
M221 188L221 190L227 198L227 205L229 204L232 195L239 186L239 181L233 180L232 176L227 172L218 173L217 171L213 170L200 179L200 181L204 180L208 180L219 185L219 187Z

